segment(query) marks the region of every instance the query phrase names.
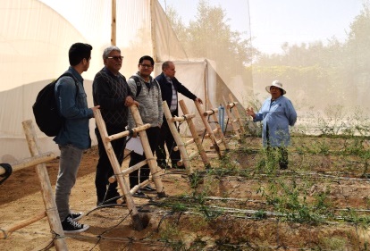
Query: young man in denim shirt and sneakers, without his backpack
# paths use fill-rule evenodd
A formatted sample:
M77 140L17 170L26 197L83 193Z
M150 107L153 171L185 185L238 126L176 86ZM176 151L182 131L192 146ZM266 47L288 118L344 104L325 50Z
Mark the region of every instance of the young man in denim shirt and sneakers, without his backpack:
M56 106L63 117L61 130L54 138L59 145L61 156L59 173L55 186L55 203L62 227L65 232L81 232L88 230L87 224L77 222L82 213L70 210L71 188L77 179L77 172L83 152L91 146L88 120L94 117L99 106L88 108L88 100L83 88L81 74L88 71L92 46L83 43L73 44L69 50L70 67L55 84Z

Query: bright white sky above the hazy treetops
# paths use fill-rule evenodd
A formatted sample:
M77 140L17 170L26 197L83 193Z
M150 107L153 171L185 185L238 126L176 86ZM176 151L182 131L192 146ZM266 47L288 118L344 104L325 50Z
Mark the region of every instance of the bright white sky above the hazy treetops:
M198 0L158 0L172 5L186 23L195 20ZM282 44L344 41L349 25L361 13L366 0L207 0L221 6L230 19L231 29L248 31L252 45L267 54L282 53ZM368 1L368 0L367 0ZM250 15L248 27L247 13ZM249 32L248 32L249 33Z

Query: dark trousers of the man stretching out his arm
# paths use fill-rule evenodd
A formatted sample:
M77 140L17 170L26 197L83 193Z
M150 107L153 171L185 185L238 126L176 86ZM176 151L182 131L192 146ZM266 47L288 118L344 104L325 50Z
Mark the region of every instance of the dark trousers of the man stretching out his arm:
M172 167L174 168L176 167L177 162L181 160L181 155L180 151L173 151L173 147L177 145L166 120L164 120L164 123L162 124L161 137L159 138L158 147L156 147L156 163L158 166L163 168L167 166L167 163L165 162L167 155L165 153L164 143L167 146Z

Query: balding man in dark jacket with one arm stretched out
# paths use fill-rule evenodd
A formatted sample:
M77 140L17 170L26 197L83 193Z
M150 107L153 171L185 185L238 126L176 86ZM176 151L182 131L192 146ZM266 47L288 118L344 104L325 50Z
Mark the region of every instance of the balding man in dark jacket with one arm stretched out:
M183 96L189 97L191 100L203 104L203 101L200 98L191 93L188 88L184 87L181 82L179 82L179 80L175 78L175 73L176 71L174 63L171 61L166 61L162 64L162 73L156 77L156 80L161 87L162 100L165 100L168 107L170 107L172 117L179 115L179 92ZM167 150L170 154L172 168L178 168L177 162L181 160L180 151L173 151L173 147L176 146L176 142L174 141L165 117L161 127L161 137L159 139L159 144L156 147L156 162L158 166L162 168L170 168L170 166L166 163L167 156L164 150L164 143L167 146Z

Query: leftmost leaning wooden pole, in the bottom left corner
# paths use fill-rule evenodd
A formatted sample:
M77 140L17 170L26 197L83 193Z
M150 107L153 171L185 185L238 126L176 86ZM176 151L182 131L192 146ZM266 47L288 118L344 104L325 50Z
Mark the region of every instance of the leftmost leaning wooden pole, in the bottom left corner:
M35 129L32 125L32 121L23 121L23 130L26 135L27 143L29 145L29 152L31 156L40 155L40 148L38 146L38 138L36 137ZM38 173L38 180L41 184L41 194L44 200L44 205L47 213L47 220L50 225L52 232L55 232L57 238L54 239L56 250L68 250L67 245L64 241L64 231L62 223L59 219L59 213L55 204L55 197L53 189L50 185L49 176L46 170L45 163L39 163L36 166L36 172Z

